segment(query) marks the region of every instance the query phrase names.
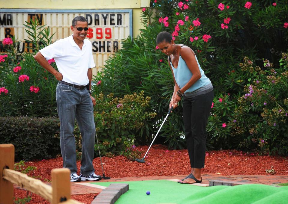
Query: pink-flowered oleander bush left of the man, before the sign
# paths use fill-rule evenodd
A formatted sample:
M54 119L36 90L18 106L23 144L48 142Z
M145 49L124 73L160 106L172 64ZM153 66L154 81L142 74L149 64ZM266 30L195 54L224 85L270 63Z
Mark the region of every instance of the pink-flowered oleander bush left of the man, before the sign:
M37 21L26 22L26 32L32 52L17 53L15 38L5 45L7 57L0 60L0 115L45 117L57 116L55 91L57 80L34 60L34 55L51 43L49 27ZM7 39L6 39L7 40ZM9 40L9 39L8 39ZM4 55L1 55L4 56ZM49 63L56 68L55 62Z

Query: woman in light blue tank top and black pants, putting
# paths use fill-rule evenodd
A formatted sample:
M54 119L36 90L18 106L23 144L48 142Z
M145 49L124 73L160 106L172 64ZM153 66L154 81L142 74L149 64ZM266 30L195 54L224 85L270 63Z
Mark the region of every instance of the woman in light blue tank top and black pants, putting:
M206 125L214 97L213 86L188 46L177 45L170 33L157 35L156 43L165 55L173 74L174 92L169 108L177 108L183 97L183 121L191 173L179 183L201 183L206 149Z

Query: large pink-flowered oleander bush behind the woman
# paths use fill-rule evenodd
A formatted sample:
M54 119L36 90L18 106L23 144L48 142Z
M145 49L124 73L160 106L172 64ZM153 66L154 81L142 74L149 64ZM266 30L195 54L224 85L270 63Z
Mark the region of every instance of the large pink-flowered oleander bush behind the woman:
M145 95L151 97L151 111L157 113L157 117L148 124L146 134L138 136L141 141L149 143L166 116L173 93L167 56L158 50L155 42L159 32L168 31L177 44L188 45L195 51L199 64L214 86L207 147L252 148L243 146L244 139L250 141L251 135L247 131L235 135L235 126L231 123L241 106L238 99L246 93L244 88L253 78L253 74L242 70L239 63L247 56L263 71L268 67L259 60L262 58L275 67L280 66L282 53L288 48L287 0L155 0L151 1L150 7L155 13L153 15L151 8L143 8L145 28L140 30L140 35L125 39L122 49L109 58L102 73L96 76L96 93L102 91L107 95L113 92L119 97L144 90ZM161 129L164 142L174 149L185 147L181 103L179 105ZM246 114L245 117L250 114L257 117L260 113L246 111ZM278 147L273 150L275 145L270 143L269 153L287 153L281 147L283 151Z

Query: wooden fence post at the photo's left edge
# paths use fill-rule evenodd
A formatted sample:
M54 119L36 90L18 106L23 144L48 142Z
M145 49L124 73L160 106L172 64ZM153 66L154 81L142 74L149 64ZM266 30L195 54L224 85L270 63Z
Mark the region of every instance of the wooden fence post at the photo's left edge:
M13 183L3 179L3 169L14 170L14 145L0 144L0 203L13 204Z

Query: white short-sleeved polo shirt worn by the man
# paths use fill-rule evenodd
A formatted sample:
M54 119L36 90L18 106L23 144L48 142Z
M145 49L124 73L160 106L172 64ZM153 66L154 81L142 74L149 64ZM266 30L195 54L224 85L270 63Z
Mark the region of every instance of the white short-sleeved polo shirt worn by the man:
M54 58L58 71L63 75L62 81L70 84L87 85L87 71L95 67L90 40L84 39L82 50L73 40L73 34L55 41L39 52L46 60Z

